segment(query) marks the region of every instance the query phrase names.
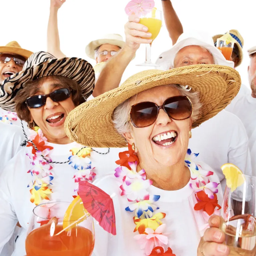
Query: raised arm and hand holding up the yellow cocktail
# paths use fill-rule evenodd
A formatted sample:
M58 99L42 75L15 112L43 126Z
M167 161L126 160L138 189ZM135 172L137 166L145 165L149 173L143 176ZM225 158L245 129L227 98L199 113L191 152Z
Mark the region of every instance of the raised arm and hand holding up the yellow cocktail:
M126 67L133 59L140 44L152 42L151 39L142 38L151 37L151 33L147 33L148 28L139 24L139 21L139 17L135 15L129 16L129 21L125 24L126 44L117 55L108 61L101 71L92 94L94 97L117 88Z

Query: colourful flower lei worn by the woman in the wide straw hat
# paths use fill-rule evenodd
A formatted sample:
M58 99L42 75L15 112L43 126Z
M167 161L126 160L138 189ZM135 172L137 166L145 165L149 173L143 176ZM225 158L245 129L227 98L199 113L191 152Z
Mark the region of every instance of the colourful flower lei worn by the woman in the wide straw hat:
M185 158L185 166L190 169L191 179L190 187L195 191L197 203L194 210L202 210L204 219L208 222L212 214L218 214L221 208L218 205L217 186L219 183L211 182L209 176L212 171L203 170L200 165L192 160L198 154L191 153L188 149ZM151 180L146 179L145 170L137 172L138 158L134 155L131 145L128 145L128 151L119 153L120 160L116 161L120 167L115 169L115 177L122 181L121 196L127 196L129 206L126 211L134 212L133 221L136 225L134 232L138 232L134 238L145 251L146 256L166 255L175 256L170 247L168 247L168 233L164 233L166 224L162 219L166 214L155 212L159 209L155 203L160 199L159 195L150 195L147 189L152 185Z

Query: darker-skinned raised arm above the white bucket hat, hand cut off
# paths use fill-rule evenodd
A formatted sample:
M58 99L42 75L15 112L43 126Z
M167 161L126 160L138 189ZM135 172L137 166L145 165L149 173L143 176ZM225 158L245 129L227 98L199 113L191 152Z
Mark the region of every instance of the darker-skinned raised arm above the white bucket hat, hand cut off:
M164 11L164 21L168 30L169 36L172 39L172 45L174 45L179 36L183 33L183 27L178 15L173 9L171 0L162 0L162 6Z

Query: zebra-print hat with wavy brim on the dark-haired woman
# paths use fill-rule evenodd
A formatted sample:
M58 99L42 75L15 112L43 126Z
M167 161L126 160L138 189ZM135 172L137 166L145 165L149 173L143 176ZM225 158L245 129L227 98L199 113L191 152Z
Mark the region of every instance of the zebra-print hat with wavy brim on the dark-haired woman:
M15 96L26 83L44 76L65 76L77 82L88 98L94 89L95 74L92 65L79 58L56 59L47 52L36 52L25 62L23 70L6 78L0 85L0 107L15 111Z

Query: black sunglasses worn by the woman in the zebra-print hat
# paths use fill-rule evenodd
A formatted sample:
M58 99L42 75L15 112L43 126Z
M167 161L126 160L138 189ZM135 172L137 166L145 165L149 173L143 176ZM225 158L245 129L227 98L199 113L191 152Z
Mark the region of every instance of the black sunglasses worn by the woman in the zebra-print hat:
M55 102L63 101L70 97L70 91L67 88L61 88L49 94L31 96L26 99L26 103L29 108L40 108L46 104L48 97Z

